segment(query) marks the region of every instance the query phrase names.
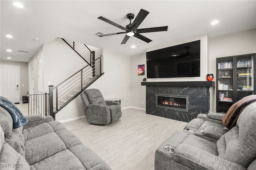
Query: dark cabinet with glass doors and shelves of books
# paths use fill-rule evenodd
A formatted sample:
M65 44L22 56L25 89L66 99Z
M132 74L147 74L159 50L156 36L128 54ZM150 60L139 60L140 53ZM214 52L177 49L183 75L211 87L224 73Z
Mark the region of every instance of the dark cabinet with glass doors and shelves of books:
M226 113L236 101L256 94L256 54L221 57L216 62L216 111Z

